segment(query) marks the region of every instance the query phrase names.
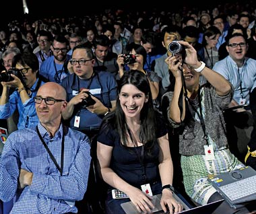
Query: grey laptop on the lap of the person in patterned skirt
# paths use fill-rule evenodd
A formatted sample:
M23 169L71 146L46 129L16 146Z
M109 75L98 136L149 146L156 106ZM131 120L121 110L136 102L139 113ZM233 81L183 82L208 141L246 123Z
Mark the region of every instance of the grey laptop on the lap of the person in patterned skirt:
M209 176L208 180L234 209L256 199L256 171L250 166Z

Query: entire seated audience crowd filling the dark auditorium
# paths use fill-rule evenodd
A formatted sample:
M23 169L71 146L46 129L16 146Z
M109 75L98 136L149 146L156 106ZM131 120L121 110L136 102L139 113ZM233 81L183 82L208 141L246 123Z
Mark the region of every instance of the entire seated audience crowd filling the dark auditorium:
M183 210L175 188L193 206L222 199L209 174L256 170L254 6L117 9L1 28L9 137L0 211L125 213L131 201L150 213L143 185L162 194L164 212ZM232 118L251 127L240 153L230 146ZM105 192L90 197L99 186ZM113 199L113 189L129 199ZM224 202L222 211L234 209Z

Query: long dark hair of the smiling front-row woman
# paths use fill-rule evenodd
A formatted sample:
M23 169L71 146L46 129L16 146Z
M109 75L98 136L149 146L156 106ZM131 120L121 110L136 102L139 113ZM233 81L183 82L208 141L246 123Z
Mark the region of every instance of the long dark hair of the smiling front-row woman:
M148 96L148 102L144 103L140 113L141 128L139 130L139 139L143 144L146 144L146 149L150 149L156 141L156 115L153 108L152 94L150 91L150 84L146 75L141 71L127 71L121 77L117 87L118 94L120 95L121 89L124 85L131 84L137 87L138 90ZM115 110L116 128L121 137L123 145L127 145L127 123L125 122L125 113L121 108L119 96L117 97L117 108ZM159 124L158 124L159 125Z

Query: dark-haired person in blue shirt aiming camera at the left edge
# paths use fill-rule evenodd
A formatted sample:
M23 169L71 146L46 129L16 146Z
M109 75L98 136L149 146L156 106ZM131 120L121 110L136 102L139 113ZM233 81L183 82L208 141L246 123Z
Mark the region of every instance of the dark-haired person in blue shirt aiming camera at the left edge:
M12 60L13 68L1 73L3 92L0 98L0 118L9 118L18 110L18 129L32 127L38 123L38 116L34 107L34 96L44 82L37 77L39 63L36 55L23 52L15 55ZM9 89L15 92L9 94Z

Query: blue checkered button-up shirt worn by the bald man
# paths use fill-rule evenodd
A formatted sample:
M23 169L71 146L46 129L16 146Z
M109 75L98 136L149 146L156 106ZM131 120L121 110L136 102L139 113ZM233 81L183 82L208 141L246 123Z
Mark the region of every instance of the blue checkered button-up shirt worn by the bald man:
M40 135L61 166L63 126L52 139L38 123ZM80 201L87 189L90 141L86 135L65 127L63 176L36 133L36 127L9 135L0 159L0 199L14 197L11 213L77 213L66 201ZM31 186L18 189L20 168L33 173Z

